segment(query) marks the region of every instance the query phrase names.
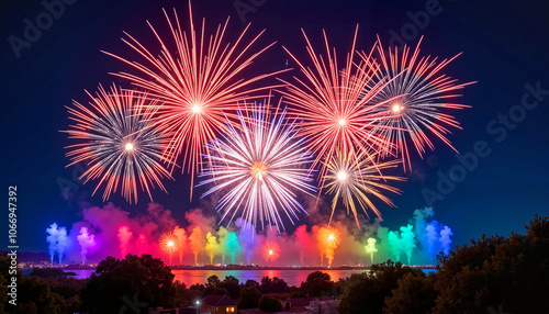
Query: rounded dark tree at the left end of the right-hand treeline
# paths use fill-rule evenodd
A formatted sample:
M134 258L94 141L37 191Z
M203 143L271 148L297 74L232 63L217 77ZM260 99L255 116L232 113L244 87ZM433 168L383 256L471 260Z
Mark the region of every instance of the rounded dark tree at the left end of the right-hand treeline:
M337 310L341 314L382 313L385 298L399 285L399 279L406 273L424 276L422 270L403 267L401 262L388 260L372 265L369 272L355 273L345 280Z

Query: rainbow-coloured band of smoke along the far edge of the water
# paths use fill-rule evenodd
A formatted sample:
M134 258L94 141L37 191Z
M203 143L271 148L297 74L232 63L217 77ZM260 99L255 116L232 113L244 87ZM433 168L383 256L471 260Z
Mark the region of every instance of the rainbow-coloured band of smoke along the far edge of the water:
M278 233L270 225L256 232L242 220L236 220L236 226L220 227L214 213L200 209L187 211L186 220L177 222L159 204L149 204L143 214L132 215L109 203L85 209L83 220L75 223L69 234L67 228L52 224L46 240L52 263L55 255L65 263L94 263L107 256L150 254L167 265L171 265L172 256L179 257L179 265L261 265L266 262L265 244L274 243L281 254L268 260L270 266L370 265L386 259L433 265L437 254L451 249L453 234L433 220L432 209L416 210L408 224L391 229L379 221L362 221L363 227L357 229L352 217L344 213L326 226L322 222L329 220L329 206L316 211L310 206L307 211L307 224L293 233ZM168 250L160 240L163 234L169 234L173 243Z

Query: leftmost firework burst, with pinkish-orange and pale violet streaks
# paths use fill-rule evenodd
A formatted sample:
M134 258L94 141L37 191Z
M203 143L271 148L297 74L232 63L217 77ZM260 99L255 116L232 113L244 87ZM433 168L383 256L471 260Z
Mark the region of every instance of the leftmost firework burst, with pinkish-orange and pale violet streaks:
M87 93L92 100L89 106L76 101L74 108L67 106L74 124L61 132L78 141L66 147L69 149L66 156L70 158L67 167L86 162L89 168L79 179L86 178L85 183L99 179L93 194L104 183L103 201L119 188L130 203L137 203L137 186L150 200L150 189L155 186L166 192L161 179L171 176L160 162L167 161L163 157L167 141L146 122L153 115L145 108L149 101L115 85L110 92L99 86L97 97Z

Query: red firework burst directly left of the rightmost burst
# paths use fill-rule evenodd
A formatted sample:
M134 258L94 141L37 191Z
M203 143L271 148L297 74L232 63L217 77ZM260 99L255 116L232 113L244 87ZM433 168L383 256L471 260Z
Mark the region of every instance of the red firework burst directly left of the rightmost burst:
M358 25L343 68L338 67L336 51L330 52L325 32L326 56L318 56L303 31L313 68L302 64L284 47L305 80L294 77L296 85L281 80L288 88L280 92L290 104L289 116L303 121L300 123L302 135L309 137L309 149L316 156L312 168L321 165L321 187L327 171L326 164L322 161L332 160L337 152L354 156L359 152L372 152L390 145L379 132L372 130L382 127L379 121L388 119L388 112L376 109L392 99L369 104L388 82L380 80L372 83L379 66L372 58L357 60L355 57L358 55L355 53L357 34ZM363 93L365 89L368 89L367 93Z

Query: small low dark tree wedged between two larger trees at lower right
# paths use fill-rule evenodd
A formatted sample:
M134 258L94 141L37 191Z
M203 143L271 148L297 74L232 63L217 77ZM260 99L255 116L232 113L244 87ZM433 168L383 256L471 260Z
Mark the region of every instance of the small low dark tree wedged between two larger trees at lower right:
M392 291L391 296L385 298L384 313L430 313L437 299L435 290L436 274L427 277L406 273L399 279L399 287Z

